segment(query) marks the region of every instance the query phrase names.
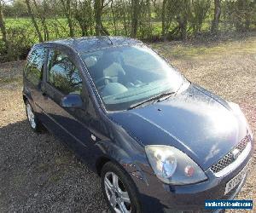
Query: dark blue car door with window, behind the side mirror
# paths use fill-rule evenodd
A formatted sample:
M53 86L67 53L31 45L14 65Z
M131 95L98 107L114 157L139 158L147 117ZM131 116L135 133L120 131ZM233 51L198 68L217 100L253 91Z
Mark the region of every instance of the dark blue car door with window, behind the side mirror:
M81 71L75 60L59 49L49 49L43 93L46 96L43 111L48 117L48 128L76 151L88 156L94 143L89 130L91 118ZM84 102L81 108L63 108L61 99L78 94ZM95 139L93 137L93 139ZM84 153L85 152L85 153ZM87 154L86 154L87 153Z

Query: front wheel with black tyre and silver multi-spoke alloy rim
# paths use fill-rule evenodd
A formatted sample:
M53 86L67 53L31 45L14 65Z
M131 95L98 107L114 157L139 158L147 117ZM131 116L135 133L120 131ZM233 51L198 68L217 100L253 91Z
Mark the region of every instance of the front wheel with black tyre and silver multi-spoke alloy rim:
M102 192L112 212L142 212L137 188L131 177L119 164L113 162L104 164L101 178Z

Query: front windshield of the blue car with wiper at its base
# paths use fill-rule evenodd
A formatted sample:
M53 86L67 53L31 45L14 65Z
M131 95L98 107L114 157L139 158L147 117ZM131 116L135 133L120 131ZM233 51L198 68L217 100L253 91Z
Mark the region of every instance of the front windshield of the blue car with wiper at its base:
M108 111L127 110L155 95L176 92L187 82L143 44L81 54Z

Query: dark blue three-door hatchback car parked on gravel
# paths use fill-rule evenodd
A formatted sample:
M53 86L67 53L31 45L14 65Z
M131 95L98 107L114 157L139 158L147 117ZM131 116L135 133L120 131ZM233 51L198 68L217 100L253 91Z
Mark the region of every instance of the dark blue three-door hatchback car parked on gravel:
M101 176L113 212L203 211L246 180L253 135L240 107L135 39L34 45L23 99L32 130L44 126Z

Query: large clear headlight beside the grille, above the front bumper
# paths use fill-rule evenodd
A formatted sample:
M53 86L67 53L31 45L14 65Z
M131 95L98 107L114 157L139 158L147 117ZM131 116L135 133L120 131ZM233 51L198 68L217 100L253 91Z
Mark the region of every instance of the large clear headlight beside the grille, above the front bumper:
M149 145L145 151L155 175L167 184L185 185L207 180L200 166L175 147Z

